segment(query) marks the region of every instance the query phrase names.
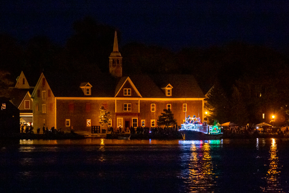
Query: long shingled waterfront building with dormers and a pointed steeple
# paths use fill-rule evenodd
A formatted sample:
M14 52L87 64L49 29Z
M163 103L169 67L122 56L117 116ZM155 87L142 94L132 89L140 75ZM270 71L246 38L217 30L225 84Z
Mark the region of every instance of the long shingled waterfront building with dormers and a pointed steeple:
M55 127L89 132L100 126L100 106L111 112L110 126L155 127L163 109L171 109L178 124L188 115L203 120L205 98L192 75L122 76L122 57L115 33L109 57L110 73L93 73L93 78L42 73L31 95L34 128ZM91 77L91 76L90 76Z

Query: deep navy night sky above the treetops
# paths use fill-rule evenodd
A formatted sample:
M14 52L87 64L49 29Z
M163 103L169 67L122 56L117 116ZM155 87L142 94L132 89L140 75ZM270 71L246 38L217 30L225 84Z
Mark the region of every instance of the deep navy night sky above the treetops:
M21 40L47 35L63 45L73 21L92 16L122 32L120 45L138 41L177 51L244 41L289 49L288 0L1 1L0 13L0 32Z

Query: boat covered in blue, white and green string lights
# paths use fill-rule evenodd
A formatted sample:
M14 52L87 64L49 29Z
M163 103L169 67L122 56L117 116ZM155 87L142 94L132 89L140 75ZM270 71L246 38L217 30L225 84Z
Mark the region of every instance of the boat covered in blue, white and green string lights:
M181 124L179 132L185 140L209 140L223 137L220 124L207 125L206 122L202 123L200 118L195 115L192 118L190 116L186 118L186 122Z

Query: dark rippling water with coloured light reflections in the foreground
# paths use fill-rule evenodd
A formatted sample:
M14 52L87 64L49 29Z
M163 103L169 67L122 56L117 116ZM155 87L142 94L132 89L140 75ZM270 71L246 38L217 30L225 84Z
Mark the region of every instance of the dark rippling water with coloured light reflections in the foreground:
M289 192L289 140L0 142L0 192Z

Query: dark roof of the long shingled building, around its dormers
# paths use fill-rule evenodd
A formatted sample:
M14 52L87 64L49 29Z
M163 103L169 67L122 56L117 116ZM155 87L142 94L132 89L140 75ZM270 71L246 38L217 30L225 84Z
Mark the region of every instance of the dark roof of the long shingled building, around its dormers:
M80 77L44 73L55 97L114 97L127 77L131 79L142 98L205 98L197 81L188 74L132 75L114 78L109 73L95 73ZM92 85L91 95L84 95L80 88L83 83ZM173 86L172 96L166 96L161 88Z

